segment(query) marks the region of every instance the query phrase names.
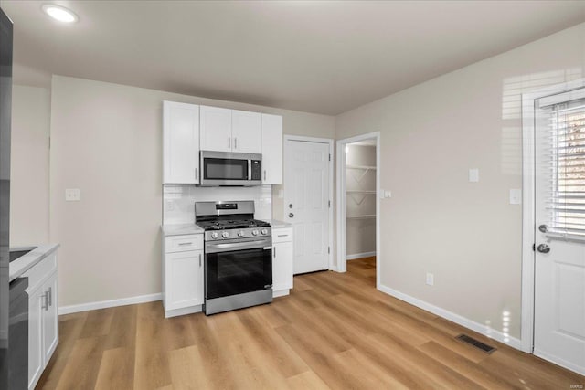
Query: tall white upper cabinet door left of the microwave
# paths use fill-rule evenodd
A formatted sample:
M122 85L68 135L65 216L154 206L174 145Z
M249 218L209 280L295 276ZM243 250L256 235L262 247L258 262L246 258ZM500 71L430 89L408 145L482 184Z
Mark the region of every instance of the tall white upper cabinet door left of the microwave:
M163 183L199 183L199 106L163 103Z

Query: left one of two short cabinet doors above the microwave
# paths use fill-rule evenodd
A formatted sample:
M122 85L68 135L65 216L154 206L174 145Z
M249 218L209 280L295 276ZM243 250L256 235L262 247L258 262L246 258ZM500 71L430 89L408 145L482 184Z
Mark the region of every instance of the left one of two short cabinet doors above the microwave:
M201 150L231 152L231 110L200 107Z

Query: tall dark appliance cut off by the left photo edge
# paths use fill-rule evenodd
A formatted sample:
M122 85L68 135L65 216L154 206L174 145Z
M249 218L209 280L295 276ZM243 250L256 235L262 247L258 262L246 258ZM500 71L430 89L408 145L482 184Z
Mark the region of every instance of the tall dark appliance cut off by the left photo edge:
M8 374L11 110L12 21L0 8L0 389L16 388Z

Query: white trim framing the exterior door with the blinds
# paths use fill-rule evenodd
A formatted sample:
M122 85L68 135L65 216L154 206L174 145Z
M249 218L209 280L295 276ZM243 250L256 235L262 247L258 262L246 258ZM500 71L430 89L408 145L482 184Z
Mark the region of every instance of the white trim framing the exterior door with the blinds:
M585 87L585 79L557 84L546 89L522 94L522 351L534 353L534 304L536 244L535 188L535 100Z

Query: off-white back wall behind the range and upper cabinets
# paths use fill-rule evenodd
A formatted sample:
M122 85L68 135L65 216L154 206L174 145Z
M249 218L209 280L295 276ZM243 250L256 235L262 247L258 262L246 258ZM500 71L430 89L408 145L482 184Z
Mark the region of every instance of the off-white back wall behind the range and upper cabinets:
M61 244L59 304L161 291L163 100L282 115L287 134L333 138L335 118L54 76L50 240ZM80 188L80 202L65 202ZM274 216L282 216L279 200Z

